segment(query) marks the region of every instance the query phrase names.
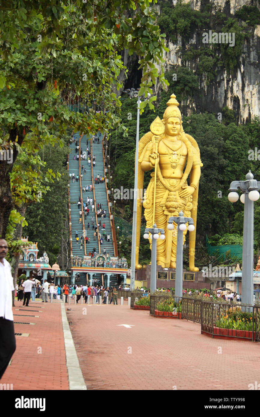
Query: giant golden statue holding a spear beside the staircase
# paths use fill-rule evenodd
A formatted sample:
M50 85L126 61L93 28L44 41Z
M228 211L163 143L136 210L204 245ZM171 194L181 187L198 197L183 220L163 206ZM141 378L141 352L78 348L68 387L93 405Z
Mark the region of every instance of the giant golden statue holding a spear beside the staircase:
M159 117L151 124L151 131L139 141L138 189L144 186L144 171L155 168L144 197L146 227L155 223L164 229L165 239L157 240L157 264L176 268L177 229L167 229L169 217L178 216L182 210L185 217L192 217L195 229L189 232L189 270L194 266L198 186L200 178L199 147L192 136L184 133L179 103L174 94L167 102L162 121ZM160 126L161 125L161 126ZM186 168L184 170L187 161ZM183 173L184 171L184 173ZM189 176L189 185L187 178ZM154 198L155 189L155 198ZM142 201L137 200L136 269L139 265L139 244ZM183 242L187 229L183 233ZM149 238L151 244L151 237Z

